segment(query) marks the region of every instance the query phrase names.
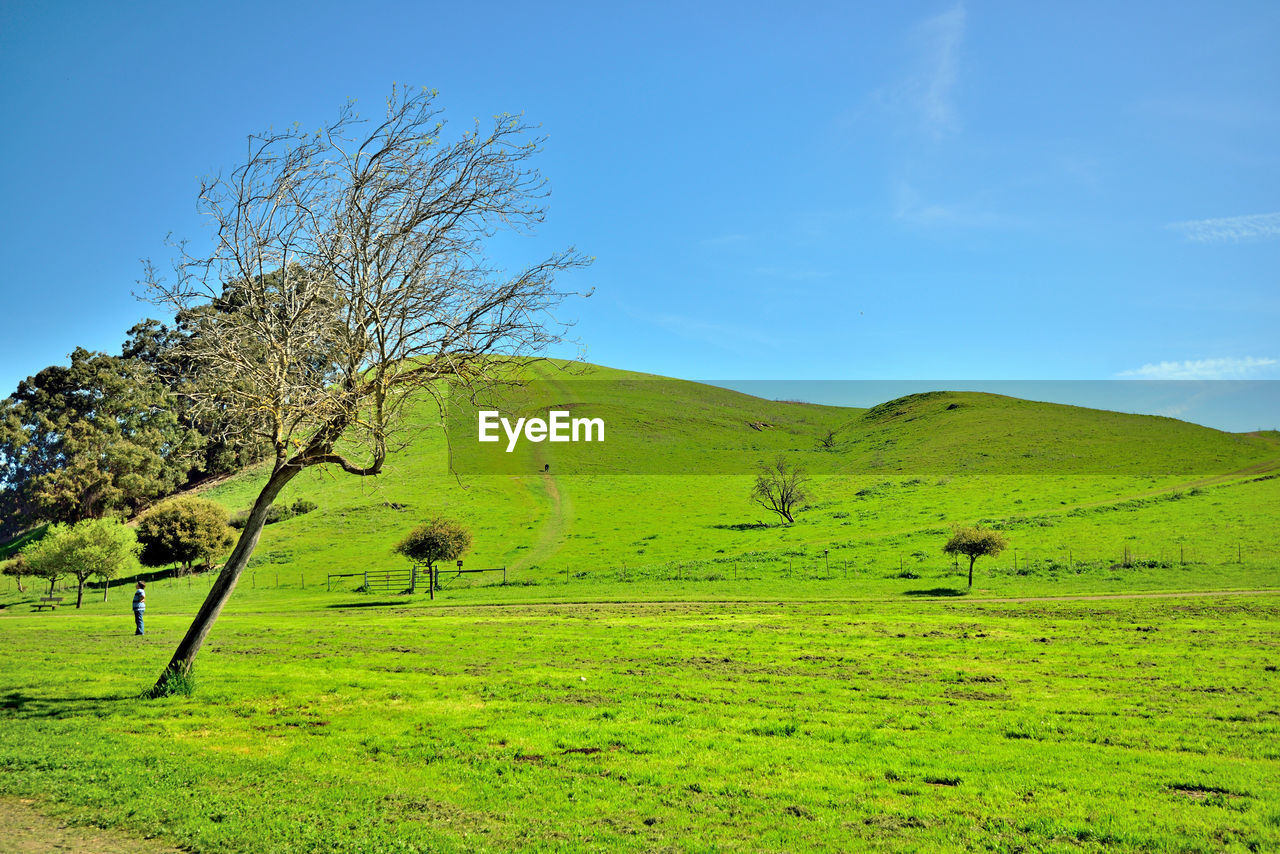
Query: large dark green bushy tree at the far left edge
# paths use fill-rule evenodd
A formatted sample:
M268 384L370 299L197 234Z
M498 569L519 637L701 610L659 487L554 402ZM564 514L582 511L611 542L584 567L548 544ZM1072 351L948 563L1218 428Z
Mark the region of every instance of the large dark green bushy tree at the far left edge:
M77 348L0 402L4 521L133 512L184 483L200 446L146 365Z

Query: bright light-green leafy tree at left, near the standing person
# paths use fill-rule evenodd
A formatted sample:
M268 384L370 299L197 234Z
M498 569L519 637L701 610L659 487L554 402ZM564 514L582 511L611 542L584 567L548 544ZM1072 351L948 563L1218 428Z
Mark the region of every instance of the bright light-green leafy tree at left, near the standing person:
M138 539L114 519L86 519L74 525L51 525L45 536L23 549L36 575L49 579L49 592L63 575L76 577L76 607L84 600L84 583L97 576L110 583L137 566Z

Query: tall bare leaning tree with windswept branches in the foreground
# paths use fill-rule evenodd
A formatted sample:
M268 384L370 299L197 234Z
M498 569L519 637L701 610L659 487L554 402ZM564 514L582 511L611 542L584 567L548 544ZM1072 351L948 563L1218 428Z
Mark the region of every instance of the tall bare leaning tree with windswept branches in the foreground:
M172 277L146 264L148 297L188 330L189 394L218 423L266 440L271 472L220 575L152 695L189 685L201 644L236 589L280 490L308 466L376 475L402 414L517 382L521 359L562 341L556 275L570 248L515 274L485 242L545 215L531 165L543 140L502 115L447 140L430 91L393 90L379 119L348 104L317 132L248 138L247 160L207 179L198 206L212 250L179 246Z

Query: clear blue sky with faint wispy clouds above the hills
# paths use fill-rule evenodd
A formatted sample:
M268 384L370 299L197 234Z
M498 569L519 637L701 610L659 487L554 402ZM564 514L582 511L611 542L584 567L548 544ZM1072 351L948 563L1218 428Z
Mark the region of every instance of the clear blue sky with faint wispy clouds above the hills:
M1119 6L1119 8L1117 8ZM0 393L115 351L197 179L393 82L524 111L591 361L1280 378L1280 5L0 6ZM1275 425L1267 425L1275 426Z

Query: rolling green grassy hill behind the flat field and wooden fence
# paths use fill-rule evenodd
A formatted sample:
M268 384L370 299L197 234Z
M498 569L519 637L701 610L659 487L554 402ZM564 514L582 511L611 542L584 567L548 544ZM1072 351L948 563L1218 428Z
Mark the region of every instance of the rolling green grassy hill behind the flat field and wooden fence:
M268 528L255 567L315 585L329 572L402 566L390 547L436 513L475 530L468 567L506 566L525 583L744 580L819 563L823 575L941 577L954 568L940 553L948 526L979 520L1018 548L1016 570L1009 552L993 577L1023 584L1082 571L1133 584L1135 567L1110 568L1126 556L1204 566L1280 557L1280 480L1270 476L1280 448L1268 435L979 393L870 410L764 401L594 366L541 366L535 388L540 406L603 414L607 442L572 453L525 443L507 462L525 474L454 475L439 414L424 406L413 417L425 429L381 476L308 471L291 484L282 501L319 510ZM822 449L831 430L836 447ZM844 472L815 474L790 526L748 498L748 472L780 452L812 472ZM566 474L575 465L640 474ZM1002 471L1015 474L992 474ZM261 479L246 471L205 494L241 510Z

